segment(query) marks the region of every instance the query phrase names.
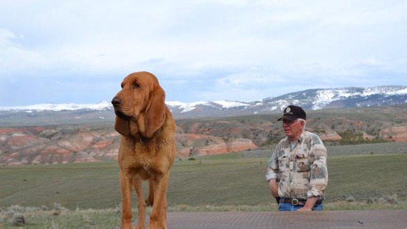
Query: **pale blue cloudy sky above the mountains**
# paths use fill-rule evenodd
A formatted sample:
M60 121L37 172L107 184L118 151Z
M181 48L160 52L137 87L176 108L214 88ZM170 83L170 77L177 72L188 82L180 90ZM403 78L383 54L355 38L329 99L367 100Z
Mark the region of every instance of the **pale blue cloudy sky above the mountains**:
M110 101L132 72L167 101L407 85L407 1L1 0L0 107Z

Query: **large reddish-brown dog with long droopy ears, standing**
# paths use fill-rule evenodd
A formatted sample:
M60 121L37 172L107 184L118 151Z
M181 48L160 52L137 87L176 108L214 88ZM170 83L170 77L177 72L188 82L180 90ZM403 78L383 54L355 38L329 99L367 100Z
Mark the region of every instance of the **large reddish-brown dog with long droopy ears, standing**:
M148 203L153 206L148 228L166 226L166 189L175 160L175 122L165 105L165 93L148 72L126 76L122 90L111 100L120 140L118 163L122 189L122 229L131 228L131 190L138 200L135 228L145 228L146 204L142 181L148 180Z

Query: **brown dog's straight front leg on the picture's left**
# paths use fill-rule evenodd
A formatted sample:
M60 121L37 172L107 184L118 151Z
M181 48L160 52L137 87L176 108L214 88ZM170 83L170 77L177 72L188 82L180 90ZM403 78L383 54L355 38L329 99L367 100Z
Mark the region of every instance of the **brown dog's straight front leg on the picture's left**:
M120 171L120 188L122 190L122 226L120 229L131 229L131 177Z

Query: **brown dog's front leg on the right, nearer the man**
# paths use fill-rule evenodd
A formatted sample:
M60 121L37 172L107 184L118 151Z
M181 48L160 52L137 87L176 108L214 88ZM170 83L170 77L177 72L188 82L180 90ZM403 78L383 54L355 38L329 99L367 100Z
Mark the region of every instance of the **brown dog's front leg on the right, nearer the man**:
M154 204L150 216L148 229L167 229L166 211L167 198L166 190L169 174L157 176L154 181Z

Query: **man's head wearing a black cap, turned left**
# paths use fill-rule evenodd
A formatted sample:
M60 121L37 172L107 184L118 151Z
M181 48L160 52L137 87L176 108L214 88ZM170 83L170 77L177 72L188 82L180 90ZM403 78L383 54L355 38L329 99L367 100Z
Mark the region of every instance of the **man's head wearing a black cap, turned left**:
M289 105L284 109L283 117L278 118L278 121L283 120L283 129L289 141L296 141L304 131L306 119L307 114L303 108Z

